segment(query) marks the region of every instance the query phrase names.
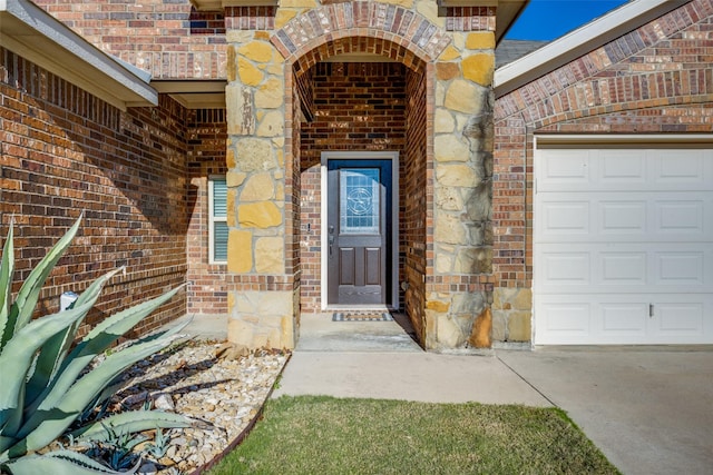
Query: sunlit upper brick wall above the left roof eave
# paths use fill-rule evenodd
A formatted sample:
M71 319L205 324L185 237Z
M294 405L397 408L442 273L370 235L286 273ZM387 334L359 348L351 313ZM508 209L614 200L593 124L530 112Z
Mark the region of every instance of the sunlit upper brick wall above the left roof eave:
M225 78L223 11L201 12L188 0L35 0L97 48L154 79Z

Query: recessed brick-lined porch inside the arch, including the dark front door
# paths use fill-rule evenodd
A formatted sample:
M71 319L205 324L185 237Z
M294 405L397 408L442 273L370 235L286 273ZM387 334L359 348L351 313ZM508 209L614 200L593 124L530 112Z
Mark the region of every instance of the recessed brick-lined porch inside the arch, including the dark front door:
M291 72L301 311L404 310L422 338L432 200L426 62L391 41L345 37L310 50ZM372 196L371 176L381 194ZM346 205L350 192L359 206ZM368 206L374 212L356 209Z

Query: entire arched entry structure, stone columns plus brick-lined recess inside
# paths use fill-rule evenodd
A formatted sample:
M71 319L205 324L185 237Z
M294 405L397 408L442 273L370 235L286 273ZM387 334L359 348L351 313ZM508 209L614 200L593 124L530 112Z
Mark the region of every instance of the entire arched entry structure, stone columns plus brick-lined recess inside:
M363 164L381 174L390 162L395 177L382 237L393 245L379 261L390 267L372 303L404 309L427 348L489 345L495 9L447 11L280 7L280 26L264 21L271 32L247 21L228 34L231 340L291 347L301 313L360 305L322 291L322 202L339 201L322 191L332 167L324 154L351 154L338 158L355 165L334 169L382 186L391 181ZM371 198L356 191L362 207Z

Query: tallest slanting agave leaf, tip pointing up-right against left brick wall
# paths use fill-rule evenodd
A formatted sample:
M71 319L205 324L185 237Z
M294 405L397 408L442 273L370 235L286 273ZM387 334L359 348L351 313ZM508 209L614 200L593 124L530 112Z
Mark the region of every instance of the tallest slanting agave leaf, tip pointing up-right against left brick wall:
M62 254L65 254L71 244L80 224L81 216L75 221L71 228L65 232L65 236L52 246L49 253L47 253L42 260L32 269L27 280L22 284L22 287L20 287L20 291L18 291L18 296L10 307L9 323L13 324L10 335L12 335L12 331L17 333L20 328L25 327L32 318L32 313L37 306L37 300L39 299L45 280L47 280L47 276L49 276L59 258L62 257Z

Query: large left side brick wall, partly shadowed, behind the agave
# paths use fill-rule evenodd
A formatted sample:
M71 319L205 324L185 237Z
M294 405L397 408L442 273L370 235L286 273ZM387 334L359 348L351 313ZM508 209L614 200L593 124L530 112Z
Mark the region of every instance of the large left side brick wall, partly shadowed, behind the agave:
M106 287L87 324L185 281L184 123L185 110L167 97L121 112L0 49L0 234L4 240L14 222L14 291L84 212L39 314L118 266L126 274ZM137 330L184 313L182 291Z

